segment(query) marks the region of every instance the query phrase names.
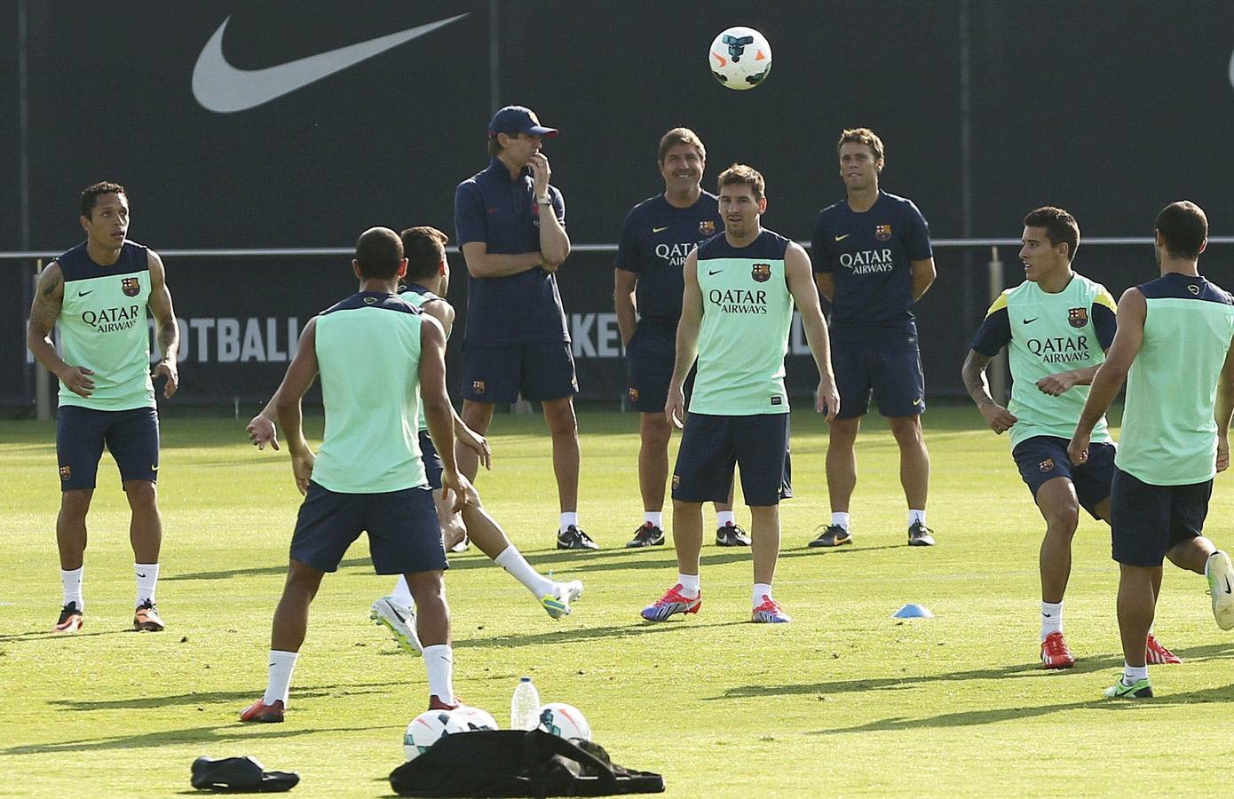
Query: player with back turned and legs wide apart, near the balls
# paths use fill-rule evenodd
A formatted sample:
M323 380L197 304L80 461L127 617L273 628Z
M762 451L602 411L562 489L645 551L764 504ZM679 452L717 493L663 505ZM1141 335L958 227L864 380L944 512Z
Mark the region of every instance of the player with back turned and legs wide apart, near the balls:
M395 293L406 273L399 235L364 231L352 269L360 290L310 320L275 394L296 487L305 494L283 598L270 634L265 694L242 721L283 721L291 673L326 572L368 532L379 574L404 574L420 610L417 631L428 673L429 709L458 705L453 688L445 552L421 458L406 431L423 412L442 458L442 487L455 510L478 505L454 462L454 420L445 391L445 333L441 324ZM326 438L315 456L301 427L300 400L321 374Z

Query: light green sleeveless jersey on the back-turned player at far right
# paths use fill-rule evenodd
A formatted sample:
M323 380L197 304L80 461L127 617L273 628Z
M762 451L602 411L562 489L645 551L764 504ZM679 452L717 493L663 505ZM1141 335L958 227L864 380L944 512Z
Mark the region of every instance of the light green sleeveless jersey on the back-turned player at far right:
M1137 287L1144 342L1127 375L1116 466L1150 485L1217 474L1217 379L1234 337L1234 299L1202 277L1167 273Z

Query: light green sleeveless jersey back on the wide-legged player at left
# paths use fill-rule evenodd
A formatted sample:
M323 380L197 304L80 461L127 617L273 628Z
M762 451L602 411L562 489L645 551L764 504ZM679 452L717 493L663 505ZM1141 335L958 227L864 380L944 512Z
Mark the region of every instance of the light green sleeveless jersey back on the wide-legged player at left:
M312 479L341 494L427 485L416 432L420 314L390 294L363 291L317 317L326 438Z

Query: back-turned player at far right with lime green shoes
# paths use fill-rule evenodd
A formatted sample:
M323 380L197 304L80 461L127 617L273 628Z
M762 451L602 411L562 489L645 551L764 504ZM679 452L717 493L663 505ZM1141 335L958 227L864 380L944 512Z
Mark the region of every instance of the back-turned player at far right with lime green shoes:
M1208 245L1199 206L1167 205L1154 233L1161 277L1118 301L1114 343L1067 445L1074 464L1092 457L1095 430L1125 380L1109 494L1124 663L1106 689L1111 698L1153 695L1141 642L1153 629L1164 558L1208 578L1217 625L1234 629L1234 567L1203 535L1213 477L1230 463L1234 298L1199 274Z

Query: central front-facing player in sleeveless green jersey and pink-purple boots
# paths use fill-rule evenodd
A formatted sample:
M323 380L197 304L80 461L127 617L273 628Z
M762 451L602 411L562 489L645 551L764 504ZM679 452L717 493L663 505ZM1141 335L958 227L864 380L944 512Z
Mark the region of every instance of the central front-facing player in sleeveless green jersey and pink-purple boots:
M698 363L690 415L673 474L673 543L677 582L643 609L648 621L698 613L702 504L723 501L740 467L750 506L754 556L752 620L790 621L771 594L780 553L780 500L792 495L789 464L789 395L784 357L793 303L801 311L818 367L816 409L834 417L840 398L832 374L827 322L811 279L810 257L797 243L764 230L763 175L733 164L719 175L723 235L686 258L676 362L664 412L677 427L686 411L686 375Z

